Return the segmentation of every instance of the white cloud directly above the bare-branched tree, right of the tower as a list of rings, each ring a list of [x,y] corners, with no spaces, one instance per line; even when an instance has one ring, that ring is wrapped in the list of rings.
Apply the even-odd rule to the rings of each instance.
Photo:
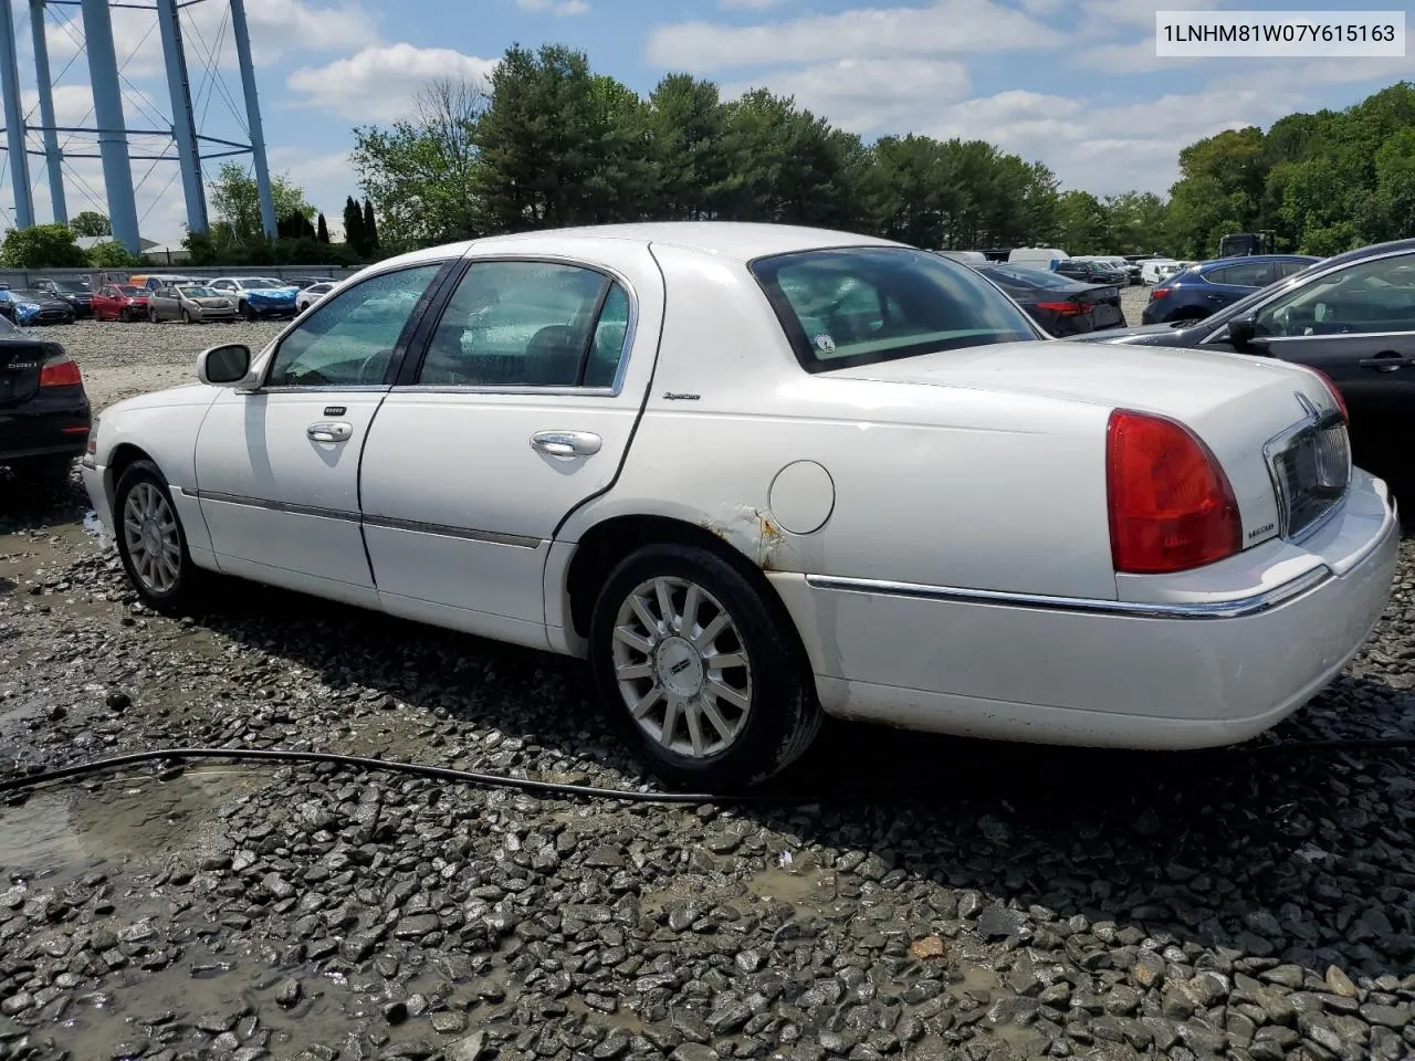
[[[297,106],[320,108],[355,122],[392,122],[408,116],[413,93],[437,78],[485,83],[497,59],[483,59],[451,48],[371,45],[325,66],[301,66],[290,74]]]

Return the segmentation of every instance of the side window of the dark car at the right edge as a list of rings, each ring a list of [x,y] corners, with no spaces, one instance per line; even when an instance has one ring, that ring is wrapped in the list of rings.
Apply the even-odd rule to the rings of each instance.
[[[1415,331],[1415,255],[1327,273],[1265,306],[1254,325],[1274,338]]]

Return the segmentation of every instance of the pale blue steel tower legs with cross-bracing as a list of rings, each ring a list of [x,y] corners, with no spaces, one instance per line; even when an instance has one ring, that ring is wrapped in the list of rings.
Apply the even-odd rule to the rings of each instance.
[[[229,25],[235,41],[236,65],[245,96],[243,132],[248,143],[207,136],[200,130],[192,106],[191,76],[183,41],[183,11],[194,4],[221,4],[226,8],[222,31]],[[211,158],[249,154],[260,201],[260,226],[267,238],[276,235],[275,197],[270,190],[270,168],[266,163],[265,134],[260,126],[260,102],[256,92],[255,64],[250,58],[250,33],[246,24],[245,0],[28,0],[30,30],[34,51],[34,81],[38,95],[38,124],[30,124],[24,110],[20,83],[20,62],[16,42],[14,11],[10,0],[0,0],[0,93],[4,96],[4,150],[10,158],[10,184],[14,195],[17,228],[35,224],[34,194],[30,177],[30,157],[42,157],[50,185],[54,219],[68,224],[64,170],[67,158],[98,158],[103,167],[105,199],[113,238],[129,253],[142,250],[139,242],[137,190],[133,184],[133,161],[175,161],[180,168],[183,197],[187,207],[187,228],[207,232],[207,197],[202,163]],[[58,126],[54,112],[54,78],[50,74],[47,16],[50,7],[78,7],[82,13],[83,38],[75,41],[88,57],[89,85],[93,93],[93,126]],[[167,74],[167,93],[171,100],[171,124],[158,129],[132,129],[125,119],[122,68],[113,42],[112,8],[153,11],[161,35],[163,62]],[[65,18],[64,27],[69,31]],[[202,41],[205,44],[205,41]],[[219,81],[219,45],[207,50],[208,74]],[[76,58],[76,57],[75,57]],[[72,62],[72,61],[71,61]],[[61,74],[62,76],[62,74]],[[209,79],[208,79],[209,83]],[[132,86],[132,82],[129,82]],[[222,89],[222,92],[225,92]],[[208,98],[209,102],[209,98]],[[231,103],[229,95],[226,102]],[[158,117],[161,117],[158,115]],[[239,116],[238,116],[239,120]],[[166,123],[167,119],[163,119]],[[154,123],[156,124],[156,123]],[[30,134],[40,136],[42,147],[30,146]],[[59,133],[67,133],[65,144]],[[96,137],[98,153],[67,150],[75,136]],[[133,154],[129,137],[161,137],[164,144],[153,154]],[[205,146],[222,150],[204,153]],[[168,153],[171,147],[171,153]],[[151,173],[151,170],[149,170]],[[81,180],[81,178],[79,178]]]

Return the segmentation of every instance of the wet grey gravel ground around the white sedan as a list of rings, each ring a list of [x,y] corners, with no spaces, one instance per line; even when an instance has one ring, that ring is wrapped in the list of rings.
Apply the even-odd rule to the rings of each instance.
[[[0,511],[0,777],[225,744],[647,787],[572,661],[239,583],[158,617],[82,518],[74,484]],[[737,809],[333,767],[40,789],[0,806],[0,1057],[1408,1058],[1411,757],[1268,747],[1415,736],[1402,556],[1361,656],[1242,751],[831,726],[802,799]]]

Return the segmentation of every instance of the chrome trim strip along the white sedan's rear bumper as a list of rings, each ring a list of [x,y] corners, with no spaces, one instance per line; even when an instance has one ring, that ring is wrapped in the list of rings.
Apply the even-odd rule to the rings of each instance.
[[[1157,620],[1227,620],[1245,618],[1272,611],[1296,600],[1327,580],[1336,577],[1332,569],[1320,564],[1299,574],[1282,586],[1223,601],[1190,603],[1139,603],[1124,600],[1102,600],[1098,597],[1050,597],[1032,593],[1005,590],[968,590],[957,586],[924,586],[920,583],[889,581],[882,579],[848,579],[829,574],[808,574],[807,584],[818,590],[836,593],[863,593],[884,597],[910,597],[955,604],[995,604],[1010,608],[1032,608],[1088,615],[1124,615],[1128,618]]]

